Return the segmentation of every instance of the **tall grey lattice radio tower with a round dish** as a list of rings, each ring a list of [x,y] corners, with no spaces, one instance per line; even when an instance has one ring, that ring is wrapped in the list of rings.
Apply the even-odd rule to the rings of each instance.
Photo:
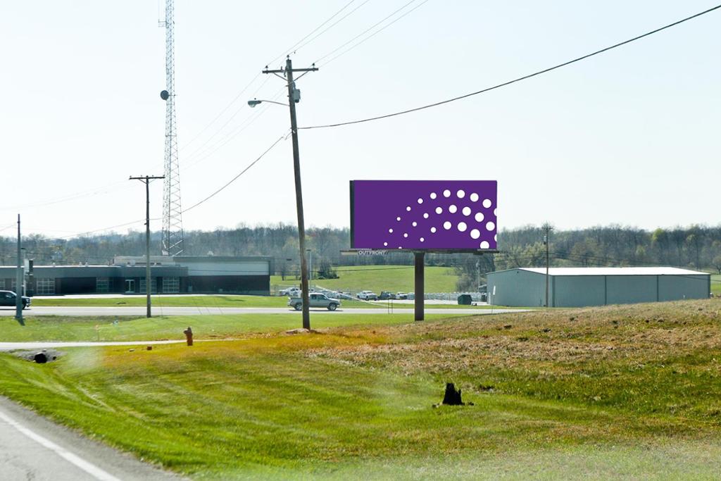
[[[180,167],[178,164],[177,120],[175,118],[175,51],[173,45],[173,0],[165,1],[165,180],[163,183],[163,255],[183,252]]]

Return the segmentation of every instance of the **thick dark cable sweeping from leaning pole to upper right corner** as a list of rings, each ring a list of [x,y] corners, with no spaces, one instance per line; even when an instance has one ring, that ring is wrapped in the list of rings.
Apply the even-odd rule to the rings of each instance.
[[[481,89],[481,90],[478,90],[478,91],[476,91],[476,92],[471,92],[471,93],[469,93],[469,94],[464,94],[464,95],[461,95],[461,96],[459,96],[459,97],[453,97],[453,98],[448,99],[448,100],[441,100],[441,102],[434,102],[434,103],[432,103],[432,104],[423,105],[423,106],[421,106],[421,107],[415,107],[415,108],[412,108],[412,109],[402,110],[402,111],[400,111],[400,112],[389,113],[389,114],[386,114],[386,115],[378,115],[378,116],[376,116],[376,117],[364,118],[364,119],[361,119],[361,120],[351,120],[350,122],[330,123],[330,124],[326,124],[326,125],[311,125],[311,126],[309,126],[309,127],[298,127],[298,128],[299,128],[299,129],[302,129],[302,130],[309,130],[309,129],[313,129],[313,128],[341,127],[342,125],[353,125],[353,124],[356,124],[356,123],[371,122],[371,121],[373,121],[373,120],[381,120],[381,119],[384,119],[384,118],[397,117],[398,115],[405,115],[405,114],[407,114],[407,113],[417,112],[417,111],[419,111],[419,110],[425,110],[425,109],[429,109],[429,108],[431,108],[431,107],[438,107],[439,105],[444,105],[444,104],[448,104],[448,103],[451,103],[451,102],[455,102],[456,100],[466,99],[466,98],[468,98],[468,97],[472,97],[472,96],[474,96],[474,95],[478,95],[478,94],[483,94],[483,93],[486,93],[486,92],[490,92],[490,91],[492,91],[492,90],[500,89],[500,88],[502,88],[502,87],[508,87],[508,85],[510,85],[510,84],[516,84],[517,82],[520,82],[520,81],[523,81],[523,80],[527,80],[527,79],[531,79],[531,78],[533,78],[533,77],[535,77],[535,76],[547,74],[547,73],[550,72],[550,71],[554,71],[554,70],[557,70],[557,69],[561,69],[562,67],[569,66],[569,65],[571,65],[572,63],[576,63],[576,62],[583,61],[583,60],[585,60],[585,59],[587,59],[587,58],[590,58],[590,57],[593,57],[593,56],[597,56],[597,55],[599,55],[599,54],[601,54],[601,53],[608,52],[609,50],[613,50],[614,48],[619,48],[619,47],[621,47],[622,45],[627,45],[628,43],[635,42],[636,40],[640,40],[640,39],[642,39],[642,38],[644,38],[644,37],[648,37],[648,36],[653,35],[653,34],[655,34],[655,33],[658,33],[658,32],[661,32],[661,31],[663,31],[663,30],[666,30],[666,29],[668,29],[668,28],[676,27],[676,25],[681,25],[681,24],[684,23],[684,22],[688,22],[688,21],[691,20],[691,19],[695,19],[695,18],[697,18],[697,17],[701,17],[702,15],[709,14],[709,13],[714,12],[715,10],[720,9],[720,8],[721,8],[721,5],[714,6],[714,7],[710,8],[710,9],[704,10],[703,12],[699,12],[699,13],[697,13],[697,14],[691,15],[691,17],[686,17],[686,18],[684,18],[684,19],[678,20],[677,22],[673,22],[673,23],[671,23],[671,24],[665,25],[665,26],[660,27],[660,28],[657,28],[657,29],[655,29],[655,30],[651,30],[650,32],[646,32],[646,33],[644,33],[644,34],[642,34],[642,35],[638,35],[637,37],[630,38],[629,40],[624,40],[623,42],[616,43],[616,44],[611,45],[611,46],[609,46],[609,47],[602,48],[601,50],[596,50],[595,52],[588,53],[588,54],[586,54],[586,55],[584,55],[584,56],[580,56],[580,57],[578,57],[578,58],[574,58],[574,59],[572,59],[572,60],[570,60],[570,61],[565,61],[565,62],[563,62],[563,63],[559,63],[559,64],[557,64],[557,65],[555,65],[555,66],[549,67],[548,69],[539,70],[539,71],[536,71],[536,72],[534,72],[534,73],[532,73],[532,74],[524,75],[524,76],[518,77],[518,78],[513,79],[513,80],[505,81],[505,82],[503,82],[502,84],[497,84],[497,85],[494,85],[493,87],[487,87],[487,88],[485,88],[485,89]]]

